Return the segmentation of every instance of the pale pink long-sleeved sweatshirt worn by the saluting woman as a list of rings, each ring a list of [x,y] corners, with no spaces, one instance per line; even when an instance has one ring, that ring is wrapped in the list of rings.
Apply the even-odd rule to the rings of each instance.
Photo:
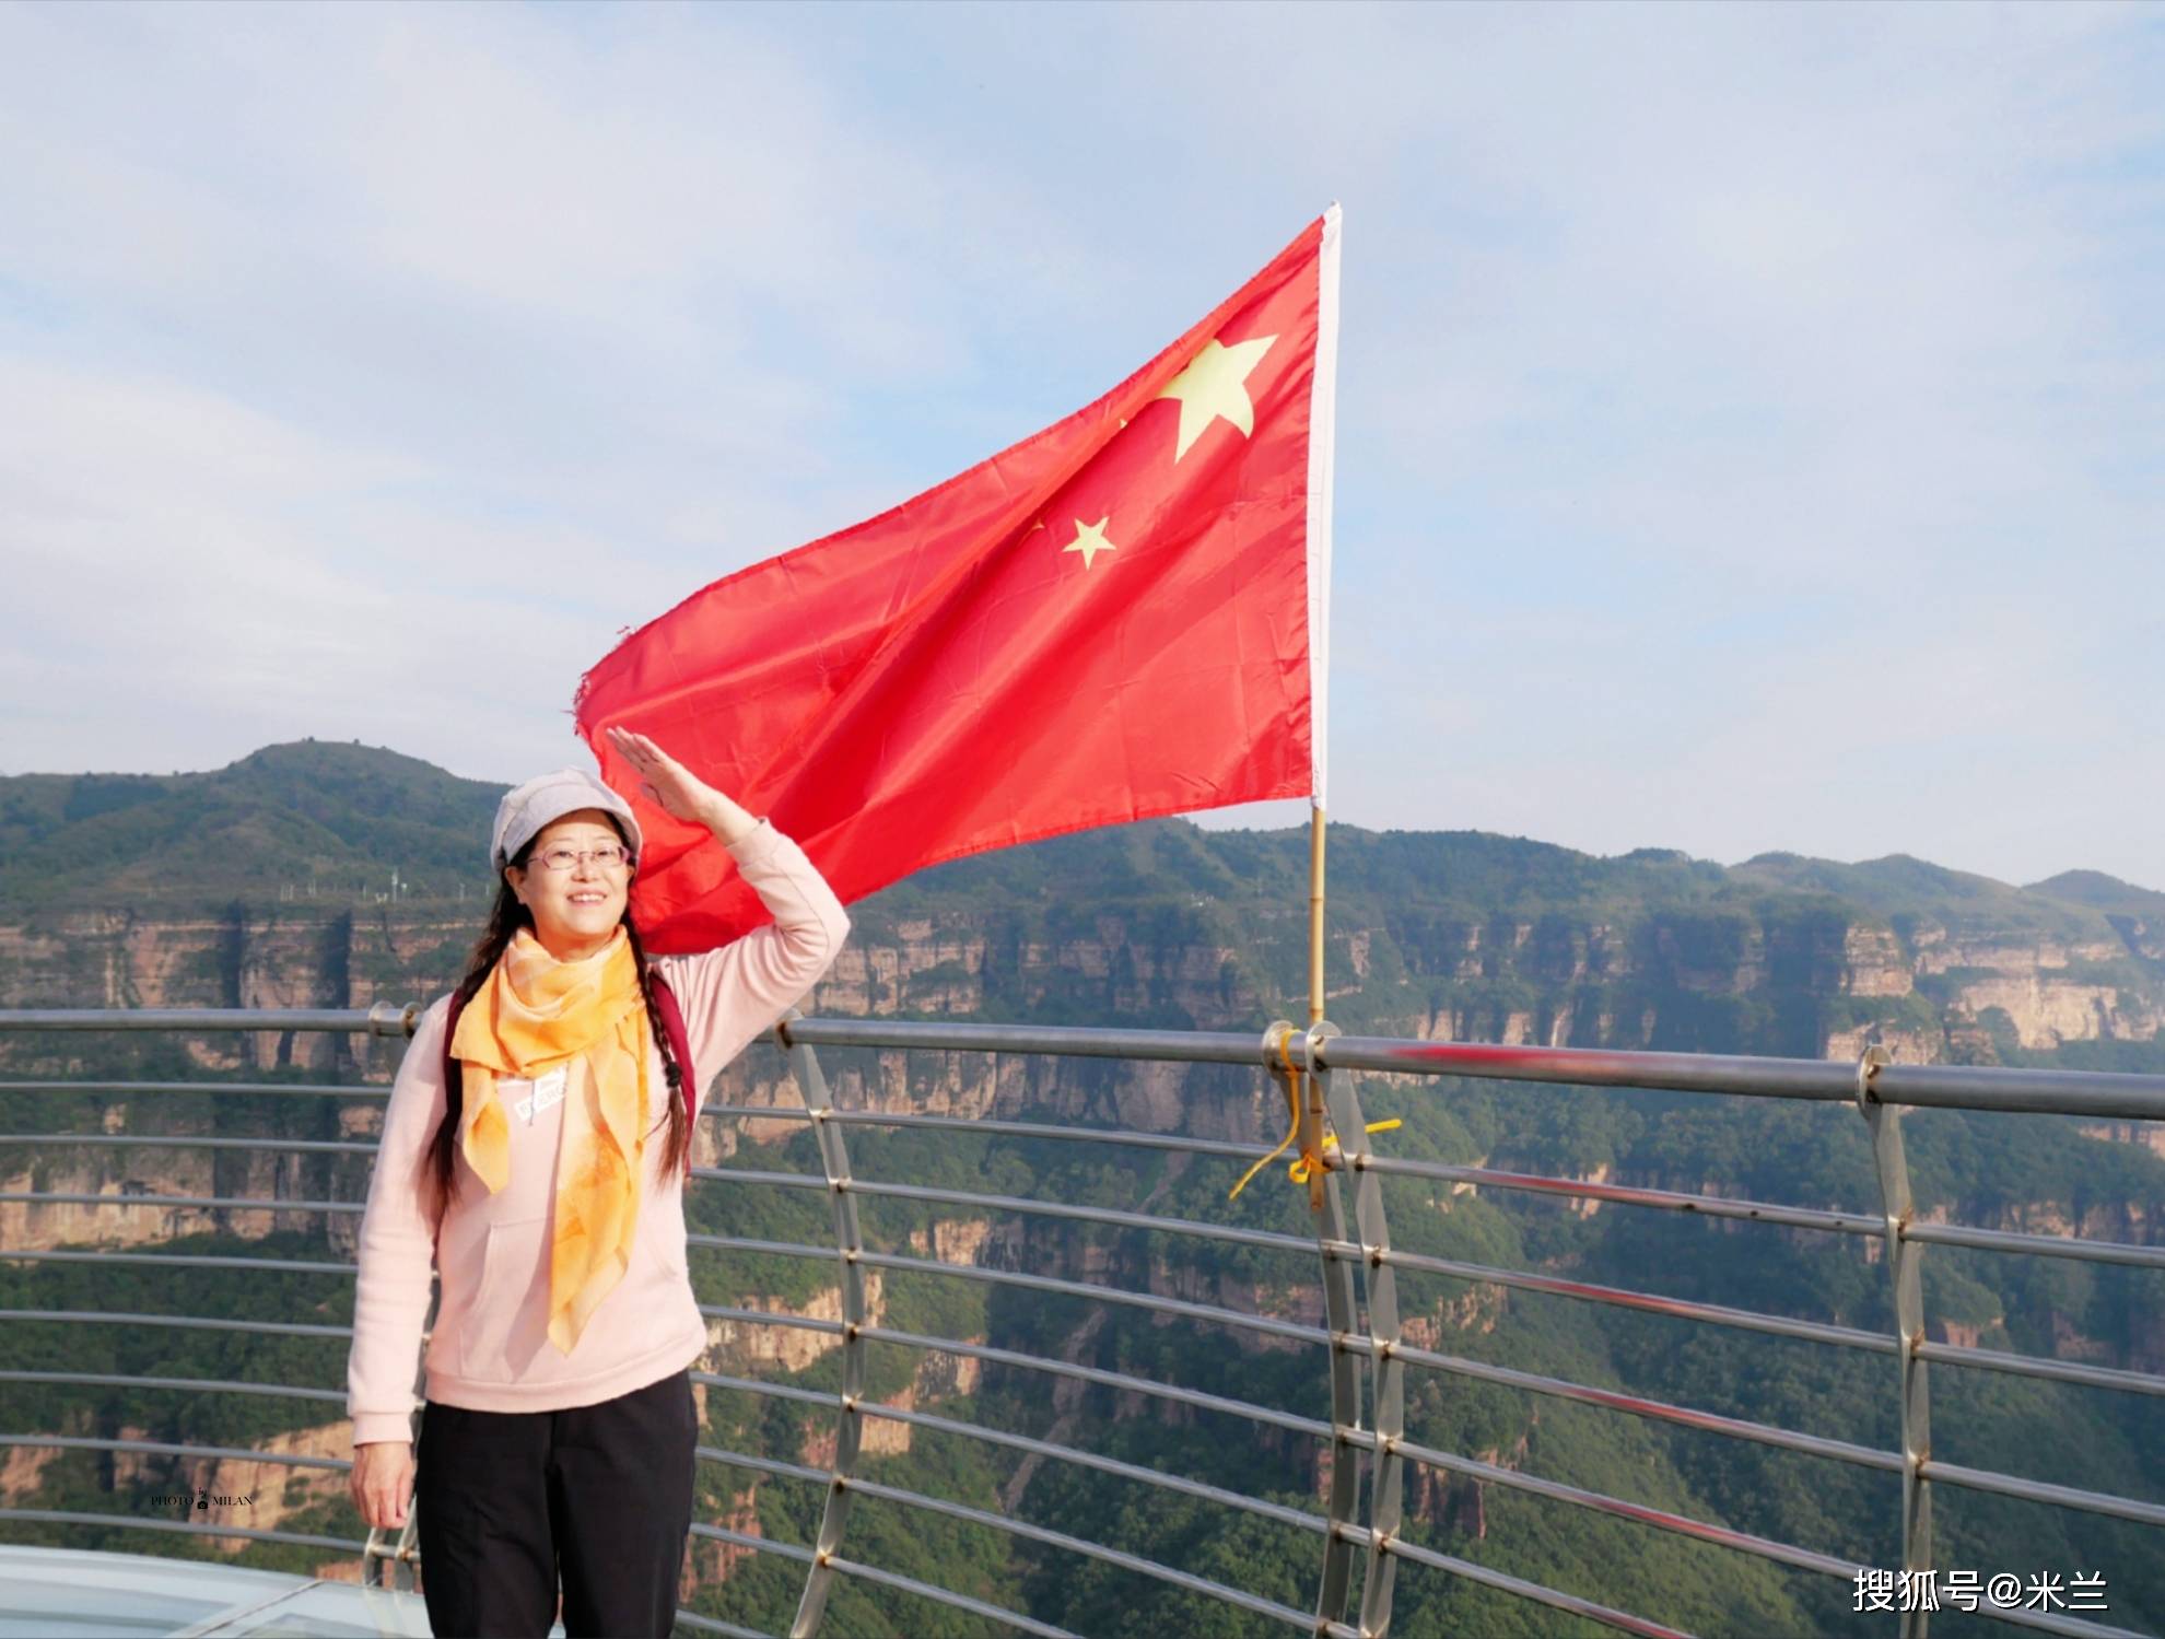
[[[834,961],[849,916],[803,849],[760,821],[730,853],[775,920],[721,950],[658,957],[684,1007],[699,1109],[708,1083],[790,1009]],[[435,1000],[407,1044],[383,1117],[383,1145],[362,1217],[359,1290],[346,1412],[353,1444],[411,1440],[420,1403],[414,1360],[429,1314],[431,1258],[442,1280],[429,1336],[427,1397],[478,1412],[550,1412],[630,1394],[682,1371],[706,1349],[706,1323],[684,1260],[684,1178],[662,1169],[667,1113],[645,1145],[632,1262],[569,1355],[548,1340],[550,1223],[563,1076],[504,1076],[511,1182],[489,1195],[461,1156],[450,1208],[429,1210],[429,1143],[444,1119],[444,1015]],[[660,1052],[650,1085],[667,1089]]]

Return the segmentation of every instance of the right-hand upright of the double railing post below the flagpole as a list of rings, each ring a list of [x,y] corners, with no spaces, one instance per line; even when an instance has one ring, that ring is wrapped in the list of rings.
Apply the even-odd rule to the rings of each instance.
[[[1381,1639],[1390,1630],[1390,1596],[1399,1578],[1399,1537],[1405,1509],[1405,1362],[1399,1360],[1399,1275],[1390,1267],[1390,1221],[1383,1215],[1383,1180],[1368,1169],[1368,1122],[1351,1078],[1334,1078],[1318,1059],[1318,1046],[1338,1035],[1321,1022],[1308,1031],[1308,1074],[1323,1091],[1338,1156],[1353,1167],[1353,1223],[1360,1230],[1362,1282],[1368,1288],[1368,1401],[1375,1407],[1375,1459],[1368,1477],[1368,1572],[1360,1591],[1360,1630]],[[1336,1182],[1336,1178],[1334,1178]],[[1344,1260],[1338,1260],[1344,1264]]]

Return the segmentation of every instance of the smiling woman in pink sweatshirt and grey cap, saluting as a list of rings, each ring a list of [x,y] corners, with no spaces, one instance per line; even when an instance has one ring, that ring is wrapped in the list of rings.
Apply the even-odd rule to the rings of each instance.
[[[422,1013],[383,1117],[346,1368],[353,1500],[370,1529],[403,1526],[418,1503],[439,1635],[548,1633],[559,1570],[569,1635],[675,1624],[688,1366],[706,1349],[684,1258],[693,1113],[680,1089],[701,1093],[849,931],[795,842],[654,740],[613,730],[611,745],[647,797],[730,849],[775,920],[650,963],[628,912],[630,803],[565,769],[496,810],[487,931],[459,989]],[[656,976],[691,1063],[673,1063]],[[431,1254],[442,1295],[416,1472]]]

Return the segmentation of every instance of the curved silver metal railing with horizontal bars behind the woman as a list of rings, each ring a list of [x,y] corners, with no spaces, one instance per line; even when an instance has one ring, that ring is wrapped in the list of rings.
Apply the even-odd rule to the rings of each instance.
[[[377,1007],[368,1013],[336,1009],[288,1009],[288,1011],[0,1011],[0,1031],[344,1031],[368,1035],[407,1035],[418,1018],[418,1009]],[[801,1106],[773,1104],[708,1104],[706,1113],[721,1119],[758,1122],[801,1122],[814,1137],[818,1173],[784,1173],[753,1167],[695,1169],[697,1180],[727,1180],[736,1189],[818,1191],[829,1197],[834,1243],[764,1241],[751,1236],[693,1234],[691,1245],[712,1247],[734,1254],[762,1254],[792,1260],[834,1262],[838,1267],[838,1319],[777,1312],[769,1308],[710,1306],[701,1303],[701,1314],[710,1321],[749,1327],[782,1327],[825,1334],[836,1340],[840,1355],[840,1388],[818,1390],[764,1377],[734,1377],[695,1371],[695,1381],[719,1390],[736,1390],[769,1401],[790,1401],[834,1414],[834,1457],[825,1466],[784,1461],[773,1455],[751,1451],[723,1451],[699,1446],[699,1459],[747,1474],[799,1481],[823,1490],[823,1507],[812,1542],[792,1544],[766,1535],[697,1522],[693,1535],[712,1539],[753,1555],[769,1555],[803,1565],[803,1587],[790,1624],[792,1635],[810,1635],[821,1626],[831,1589],[838,1578],[864,1583],[914,1598],[933,1600],[961,1613],[998,1622],[1020,1633],[1063,1633],[1022,1611],[1000,1609],[966,1591],[940,1587],[918,1578],[901,1576],[892,1570],[851,1559],[849,1526],[853,1500],[877,1498],[903,1509],[937,1516],[959,1524],[996,1531],[1037,1550],[1076,1555],[1117,1568],[1121,1572],[1154,1578],[1173,1589],[1221,1602],[1245,1611],[1267,1624],[1293,1628],[1379,1639],[1392,1615],[1392,1598],[1401,1563],[1429,1572],[1464,1578],[1485,1589],[1531,1600],[1559,1613],[1591,1620],[1611,1628],[1639,1635],[1669,1635],[1676,1628],[1656,1620],[1635,1615],[1596,1598],[1563,1589],[1544,1587],[1526,1578],[1500,1572],[1470,1559],[1444,1555],[1405,1535],[1403,1494],[1407,1466],[1433,1470],[1481,1485],[1496,1485],[1520,1496],[1567,1505],[1613,1520],[1628,1520],[1652,1531],[1671,1533],[1684,1539],[1713,1544],[1726,1550],[1764,1559],[1788,1570],[1816,1576],[1845,1578],[1858,1583],[1873,1568],[1860,1565],[1840,1555],[1823,1552],[1803,1544],[1786,1544],[1751,1535],[1710,1520],[1695,1520],[1682,1513],[1645,1503],[1609,1496],[1557,1479],[1541,1479],[1520,1472],[1500,1461],[1483,1461],[1461,1453],[1440,1451],[1407,1438],[1405,1390],[1407,1371],[1435,1373],[1440,1377],[1490,1384],[1537,1397],[1567,1401],[1606,1412],[1624,1412],[1654,1425],[1693,1429],[1728,1440],[1749,1442],[1767,1448],[1825,1459],[1860,1470],[1888,1474],[1888,1483],[1899,1490],[1901,1533],[1894,1548],[1894,1563],[1912,1574],[1933,1570],[1933,1518],[1931,1498],[1940,1485],[1966,1492],[2020,1498],[2055,1509],[2074,1509],[2143,1526],[2165,1526],[2165,1505],[2120,1496],[2102,1490],[2048,1483],[2022,1474],[1970,1468],[1944,1461],[1931,1451],[1931,1364],[1959,1366],[1968,1371],[2003,1373],[2055,1384],[2072,1384],[2102,1390],[2120,1390],[2141,1397],[2165,1394],[2165,1377],[2143,1371],[2100,1366],[2087,1360],[2059,1360],[2046,1355],[2024,1355],[1974,1345],[1933,1342],[1925,1336],[1920,1258],[1927,1245],[1966,1247],[1996,1254],[2031,1254],[2048,1258],[2074,1258],[2098,1264],[2124,1264],[2137,1269],[2165,1269],[2165,1245],[2115,1243],[2081,1236],[2052,1236],[2016,1230],[1985,1230],[1953,1223],[1916,1221],[1910,1167],[1903,1148],[1903,1111],[1961,1109],[1994,1113],[2035,1115],[2085,1115],[2120,1119],[2165,1119],[2165,1076],[2107,1076],[2107,1074],[2061,1074],[2061,1072],[2018,1072],[1948,1065],[1894,1065],[1877,1050],[1866,1052],[1862,1063],[1819,1063],[1784,1059],[1741,1059],[1663,1052],[1598,1052],[1561,1048],[1494,1048],[1435,1041],[1394,1041],[1377,1037],[1344,1037],[1329,1024],[1297,1031],[1277,1024],[1260,1039],[1228,1033],[1178,1033],[1178,1031],[1085,1031],[1085,1028],[1035,1028],[1005,1024],[909,1024],[892,1020],[814,1020],[790,1018],[775,1031],[775,1041],[788,1054],[788,1065]],[[1063,1122],[1024,1119],[966,1119],[924,1111],[851,1111],[838,1109],[829,1093],[827,1078],[818,1061],[818,1048],[877,1048],[877,1050],[931,1050],[931,1052],[987,1052],[987,1054],[1050,1054],[1080,1059],[1130,1059],[1169,1061],[1191,1065],[1251,1065],[1260,1074],[1286,1078],[1301,1074],[1314,1080],[1323,1093],[1329,1126],[1342,1145],[1331,1156],[1331,1169],[1323,1180],[1321,1210],[1314,1219],[1314,1234],[1299,1236],[1277,1230],[1245,1228],[1234,1223],[1210,1223],[1186,1217],[1156,1215],[1147,1210],[1126,1210],[1076,1202],[1054,1202],[1037,1197],[1015,1197],[979,1193],[966,1189],[931,1189],[901,1180],[857,1178],[851,1167],[847,1132],[860,1128],[916,1130],[955,1137],[1005,1137],[1054,1143],[1113,1145],[1143,1152],[1178,1152],[1186,1156],[1219,1156],[1230,1161],[1254,1161],[1267,1154],[1264,1145],[1236,1143],[1228,1139],[1191,1139],[1176,1132],[1143,1132],[1121,1128],[1093,1128]],[[1492,1169],[1485,1165],[1435,1163],[1405,1156],[1381,1156],[1373,1150],[1362,1104],[1349,1072],[1388,1074],[1394,1078],[1487,1078],[1518,1083],[1548,1083],[1565,1087],[1635,1087],[1635,1089],[1678,1089],[1695,1093],[1728,1093],[1745,1098],[1821,1100],[1849,1102],[1858,1109],[1875,1163],[1875,1182],[1881,1210],[1875,1215],[1845,1212],[1812,1206],[1786,1206],[1773,1202],[1736,1199],[1710,1193],[1684,1193],[1663,1189],[1639,1189],[1602,1180],[1546,1178]],[[1399,1087],[1414,1087],[1401,1080]],[[385,1087],[325,1087],[290,1083],[147,1083],[147,1080],[11,1080],[0,1091],[115,1091],[115,1093],[279,1093],[279,1096],[336,1096],[366,1098],[383,1096]],[[242,1152],[314,1152],[314,1154],[368,1154],[372,1143],[327,1141],[327,1139],[255,1139],[255,1137],[193,1137],[193,1135],[130,1135],[130,1132],[9,1132],[0,1135],[0,1145],[188,1145],[206,1150]],[[1498,1189],[1535,1197],[1561,1197],[1572,1202],[1596,1202],[1643,1208],[1671,1215],[1700,1215],[1736,1223],[1773,1225],[1788,1232],[1819,1232],[1827,1236],[1849,1236],[1877,1241],[1892,1286],[1892,1332],[1868,1332],[1832,1321],[1801,1319],[1764,1310],[1745,1310],[1721,1303],[1706,1303],[1656,1293],[1632,1290],[1596,1282],[1565,1280],[1561,1275],[1505,1269],[1457,1258],[1438,1258],[1405,1251],[1392,1245],[1386,1215],[1381,1180],[1416,1178],[1448,1182],[1455,1186]],[[1351,1189],[1351,1202],[1347,1202]],[[1186,1241],[1215,1243],[1225,1247],[1271,1249],[1318,1258],[1321,1325],[1288,1319],[1284,1314],[1262,1314],[1225,1303],[1206,1303],[1191,1297],[1173,1297],[1156,1290],[1111,1286],[1104,1282],[1072,1280],[1067,1275],[1028,1273],[1022,1269],[1000,1269],[989,1264],[953,1264],[937,1256],[920,1258],[898,1251],[879,1251],[866,1243],[860,1225],[860,1199],[892,1199],[916,1206],[955,1206],[972,1215],[996,1219],[1054,1219],[1085,1223],[1104,1230],[1143,1230],[1152,1234],[1180,1236]],[[110,1195],[110,1193],[54,1193],[54,1191],[11,1191],[0,1193],[0,1204],[95,1204],[119,1208],[223,1208],[223,1210],[277,1210],[340,1215],[359,1212],[359,1202],[338,1199],[245,1199],[221,1195]],[[333,1260],[292,1258],[247,1258],[247,1256],[195,1256],[167,1251],[95,1251],[95,1249],[24,1249],[6,1247],[0,1256],[17,1262],[97,1262],[139,1267],[184,1267],[184,1269],[234,1269],[234,1271],[288,1271],[351,1277],[353,1267]],[[866,1271],[905,1273],[931,1280],[976,1282],[998,1290],[1035,1293],[1046,1297],[1080,1299],[1115,1310],[1137,1310],[1163,1321],[1186,1321],[1208,1327],[1273,1338],[1282,1345],[1314,1347],[1323,1351],[1323,1368],[1316,1381],[1316,1409],[1327,1416],[1305,1416],[1243,1399],[1232,1399],[1202,1388],[1160,1381],[1139,1373],[1108,1366],[1082,1364],[1070,1358],[1052,1358],[1020,1349],[998,1347],[989,1340],[944,1338],[907,1329],[894,1329],[875,1321],[868,1303]],[[1407,1342],[1401,1329],[1396,1275],[1399,1271],[1444,1275],[1459,1282],[1496,1286],[1507,1290],[1561,1297],[1578,1303],[1619,1308],[1641,1314],[1658,1314],[1695,1325],[1777,1336],[1827,1345],[1834,1349],[1862,1351],[1892,1358],[1888,1377],[1890,1399],[1897,1412],[1899,1448],[1879,1448],[1849,1440],[1786,1429],[1749,1418],[1717,1414],[1661,1399],[1628,1394],[1611,1388],[1548,1377],[1516,1366],[1500,1366],[1468,1360],[1440,1349]],[[6,1321],[58,1321],[76,1325],[136,1325],[136,1327],[208,1327],[247,1329],[277,1336],[351,1336],[349,1327],[301,1325],[301,1323],[258,1323],[221,1321],[186,1314],[119,1314],[104,1310],[0,1310]],[[1258,1429],[1314,1440],[1327,1453],[1321,1477],[1318,1509],[1290,1507],[1286,1503],[1245,1496],[1223,1485],[1189,1479],[1158,1468],[1145,1468],[1104,1453],[1091,1453],[1057,1440],[1039,1440],[1007,1429],[996,1429],[909,1405],[888,1405],[866,1390],[866,1351],[872,1345],[916,1353],[942,1353],[957,1360],[974,1360],[1020,1373],[1037,1373],[1052,1379],[1108,1388],[1124,1394],[1163,1401],[1191,1412],[1228,1416]],[[71,1384],[71,1386],[130,1386],[141,1390],[180,1390],[195,1394],[268,1394],[303,1401],[344,1403],[340,1390],[286,1386],[286,1384],[242,1384],[223,1379],[175,1379],[175,1377],[130,1377],[130,1375],[82,1375],[65,1371],[0,1371],[0,1381],[15,1384]],[[1052,1531],[1020,1518],[1011,1511],[970,1507],[950,1498],[929,1496],[898,1485],[870,1479],[864,1472],[866,1422],[898,1422],[914,1429],[981,1442],[1024,1459],[1048,1459],[1076,1468],[1111,1474],[1134,1485],[1184,1496],[1228,1511],[1271,1520],[1282,1526],[1308,1533],[1318,1539],[1316,1548],[1316,1602],[1310,1609],[1295,1609],[1249,1589],[1232,1587],[1223,1581],[1202,1576],[1180,1565],[1160,1563],[1128,1548],[1093,1542],[1087,1537]],[[182,1457],[253,1457],[260,1461],[344,1468],[329,1457],[262,1455],[232,1446],[195,1446],[186,1442],[147,1442],[126,1438],[63,1435],[56,1431],[0,1429],[4,1446],[45,1448],[95,1448],[110,1453],[182,1455]],[[0,1509],[0,1520],[24,1522],[95,1522],[102,1526],[145,1526],[145,1529],[193,1529],[175,1526],[171,1520],[134,1520],[130,1516],[45,1511],[45,1509]],[[305,1533],[245,1531],[238,1526],[206,1529],[208,1535],[229,1535],[264,1542],[292,1542],[316,1548],[338,1548],[362,1552],[370,1572],[381,1563],[392,1574],[409,1578],[418,1559],[411,1524],[398,1539],[372,1533],[370,1539],[349,1542]],[[1858,1583],[1862,1587],[1862,1583]],[[1357,1598],[1355,1598],[1357,1596]],[[2052,1609],[2024,1609],[1983,1598],[1979,1602],[1987,1615],[2007,1624],[2063,1635],[2109,1635],[2126,1633],[2068,1615]],[[701,1633],[751,1633],[714,1617],[680,1611],[680,1624]],[[1923,1639],[1927,1630],[1925,1611],[1907,1611],[1899,1617],[1901,1633]]]

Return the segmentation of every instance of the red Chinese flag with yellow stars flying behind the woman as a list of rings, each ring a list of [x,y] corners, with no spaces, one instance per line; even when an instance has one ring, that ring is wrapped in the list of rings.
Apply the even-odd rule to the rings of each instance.
[[[652,950],[766,912],[637,795],[613,725],[797,838],[844,899],[1264,797],[1323,805],[1338,208],[1098,403],[626,637],[578,732],[632,799]]]

